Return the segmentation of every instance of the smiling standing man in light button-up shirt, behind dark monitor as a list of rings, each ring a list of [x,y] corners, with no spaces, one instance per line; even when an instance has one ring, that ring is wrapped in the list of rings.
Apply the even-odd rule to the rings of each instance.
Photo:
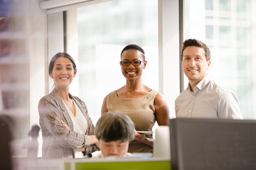
[[[200,40],[188,39],[181,48],[181,68],[188,88],[175,101],[177,118],[242,119],[238,97],[208,75],[210,49]]]

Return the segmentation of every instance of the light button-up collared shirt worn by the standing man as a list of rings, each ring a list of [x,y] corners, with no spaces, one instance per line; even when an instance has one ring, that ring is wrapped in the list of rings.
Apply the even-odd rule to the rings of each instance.
[[[216,84],[207,75],[191,91],[184,90],[175,101],[177,118],[242,119],[238,97],[233,91]]]

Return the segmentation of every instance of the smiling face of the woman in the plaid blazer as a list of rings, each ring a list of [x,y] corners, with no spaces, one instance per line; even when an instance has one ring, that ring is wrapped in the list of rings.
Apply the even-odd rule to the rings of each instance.
[[[53,72],[50,77],[53,78],[56,88],[65,88],[71,84],[75,77],[75,69],[72,62],[65,57],[59,57],[53,65]]]

